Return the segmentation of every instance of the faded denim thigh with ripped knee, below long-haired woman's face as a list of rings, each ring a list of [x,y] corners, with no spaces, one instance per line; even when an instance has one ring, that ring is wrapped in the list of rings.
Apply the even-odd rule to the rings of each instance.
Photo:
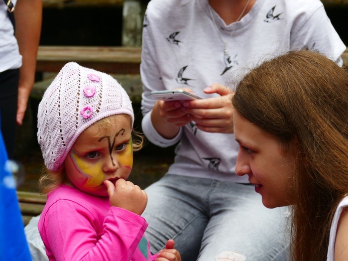
[[[220,181],[213,181],[208,201],[199,261],[290,260],[288,208],[266,208],[253,185]]]

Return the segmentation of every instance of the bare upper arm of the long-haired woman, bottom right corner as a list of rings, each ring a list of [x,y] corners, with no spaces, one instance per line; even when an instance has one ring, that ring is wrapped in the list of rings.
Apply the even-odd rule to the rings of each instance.
[[[335,261],[345,261],[348,256],[348,207],[343,208],[339,217],[334,256]]]

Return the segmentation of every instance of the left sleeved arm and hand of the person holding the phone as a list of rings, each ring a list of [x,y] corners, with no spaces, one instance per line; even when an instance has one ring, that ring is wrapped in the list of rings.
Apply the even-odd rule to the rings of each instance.
[[[142,129],[150,142],[168,147],[177,143],[180,139],[180,127],[187,124],[190,119],[187,113],[177,105],[179,102],[157,101],[150,95],[151,91],[165,90],[166,87],[161,78],[161,65],[157,60],[156,44],[152,34],[154,25],[149,15],[149,26],[143,28],[142,63],[140,72],[143,82],[142,93]]]

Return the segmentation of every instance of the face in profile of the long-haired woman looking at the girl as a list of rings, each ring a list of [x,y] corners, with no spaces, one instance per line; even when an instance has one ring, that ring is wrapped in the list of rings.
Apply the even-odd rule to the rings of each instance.
[[[255,191],[262,196],[268,208],[292,204],[294,195],[295,141],[289,144],[288,152],[280,142],[253,124],[236,110],[234,132],[239,144],[236,173],[248,175]]]

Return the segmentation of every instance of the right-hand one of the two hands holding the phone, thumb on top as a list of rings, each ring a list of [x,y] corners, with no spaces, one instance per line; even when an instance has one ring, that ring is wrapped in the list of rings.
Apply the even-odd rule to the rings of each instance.
[[[204,89],[205,93],[218,93],[220,97],[183,102],[182,109],[189,114],[197,128],[207,133],[233,133],[233,105],[231,97],[234,91],[221,84],[214,83]]]

